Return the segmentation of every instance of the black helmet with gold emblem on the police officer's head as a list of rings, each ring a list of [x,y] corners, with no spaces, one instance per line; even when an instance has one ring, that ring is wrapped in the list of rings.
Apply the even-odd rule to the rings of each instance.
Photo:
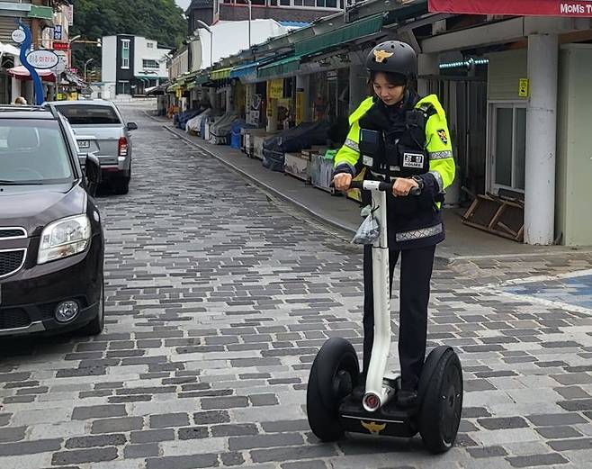
[[[412,79],[417,77],[417,54],[405,42],[382,42],[368,54],[366,68],[371,72],[395,73]]]

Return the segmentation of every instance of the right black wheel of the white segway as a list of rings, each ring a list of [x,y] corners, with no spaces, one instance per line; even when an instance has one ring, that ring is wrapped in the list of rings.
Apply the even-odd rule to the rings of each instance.
[[[435,365],[419,414],[419,433],[430,452],[444,453],[453,447],[461,414],[461,361],[448,348]]]

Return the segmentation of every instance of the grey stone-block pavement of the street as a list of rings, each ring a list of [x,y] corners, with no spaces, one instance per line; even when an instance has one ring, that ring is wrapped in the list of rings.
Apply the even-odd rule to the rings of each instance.
[[[327,338],[360,350],[360,249],[124,112],[140,125],[130,194],[99,201],[107,329],[0,341],[0,467],[592,466],[592,256],[438,259],[428,340],[461,356],[457,446],[321,444],[309,367]]]

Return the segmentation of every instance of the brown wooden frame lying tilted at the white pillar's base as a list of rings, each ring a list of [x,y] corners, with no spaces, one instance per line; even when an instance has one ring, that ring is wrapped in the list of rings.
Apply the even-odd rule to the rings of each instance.
[[[494,194],[480,194],[462,216],[462,222],[479,230],[523,242],[525,203]]]

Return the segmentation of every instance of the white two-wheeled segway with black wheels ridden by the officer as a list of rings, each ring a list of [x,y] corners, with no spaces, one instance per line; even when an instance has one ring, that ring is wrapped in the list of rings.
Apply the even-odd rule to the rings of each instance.
[[[385,376],[391,338],[386,193],[392,187],[379,181],[352,183],[352,188],[372,192],[380,223],[380,237],[372,245],[374,343],[365,393],[362,399],[354,397],[360,368],[352,344],[345,338],[328,339],[309,374],[309,425],[322,441],[336,441],[344,432],[391,437],[414,437],[419,432],[429,451],[444,453],[454,444],[462,412],[462,367],[453,348],[436,347],[427,356],[412,409],[399,409],[393,399],[400,378]]]

